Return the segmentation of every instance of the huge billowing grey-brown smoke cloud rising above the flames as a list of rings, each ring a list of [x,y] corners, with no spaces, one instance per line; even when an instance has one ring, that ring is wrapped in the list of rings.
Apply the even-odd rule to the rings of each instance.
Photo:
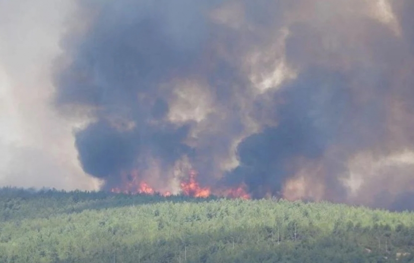
[[[413,190],[410,1],[78,4],[55,106],[89,119],[75,145],[106,188],[192,167],[254,197],[390,207]]]

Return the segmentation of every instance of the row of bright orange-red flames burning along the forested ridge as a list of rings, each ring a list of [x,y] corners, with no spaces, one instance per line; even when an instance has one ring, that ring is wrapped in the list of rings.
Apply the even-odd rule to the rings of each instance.
[[[170,191],[156,191],[147,182],[140,181],[137,172],[132,172],[129,175],[123,174],[122,186],[111,188],[113,193],[125,193],[125,194],[161,194],[163,196],[170,196]],[[250,195],[245,191],[245,186],[239,186],[237,188],[229,188],[223,191],[212,191],[210,187],[201,187],[197,181],[197,172],[191,170],[189,178],[180,183],[181,194],[185,196],[207,198],[214,194],[216,196],[223,196],[228,198],[242,198],[250,199]]]

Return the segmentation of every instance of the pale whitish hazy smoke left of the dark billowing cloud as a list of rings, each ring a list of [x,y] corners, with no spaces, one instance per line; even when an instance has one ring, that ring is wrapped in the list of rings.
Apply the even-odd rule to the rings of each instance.
[[[53,61],[71,1],[0,1],[0,186],[97,189],[72,121],[51,106]]]

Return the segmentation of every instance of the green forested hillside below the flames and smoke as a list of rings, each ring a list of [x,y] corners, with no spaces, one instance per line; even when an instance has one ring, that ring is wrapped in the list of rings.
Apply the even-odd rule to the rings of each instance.
[[[328,202],[0,189],[0,262],[414,262],[414,213]]]

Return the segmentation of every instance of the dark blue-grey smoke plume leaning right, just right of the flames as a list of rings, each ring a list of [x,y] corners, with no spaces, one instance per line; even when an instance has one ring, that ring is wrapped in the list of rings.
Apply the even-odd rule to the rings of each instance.
[[[278,125],[239,144],[241,166],[230,176],[244,178],[257,197],[266,192],[263,187],[273,194],[281,191],[285,180],[296,173],[286,167],[291,159],[319,160],[331,145],[342,140],[340,132],[351,105],[345,83],[344,77],[328,70],[310,70],[284,87],[275,95],[284,101],[275,105]],[[327,85],[329,90],[324,87]]]

